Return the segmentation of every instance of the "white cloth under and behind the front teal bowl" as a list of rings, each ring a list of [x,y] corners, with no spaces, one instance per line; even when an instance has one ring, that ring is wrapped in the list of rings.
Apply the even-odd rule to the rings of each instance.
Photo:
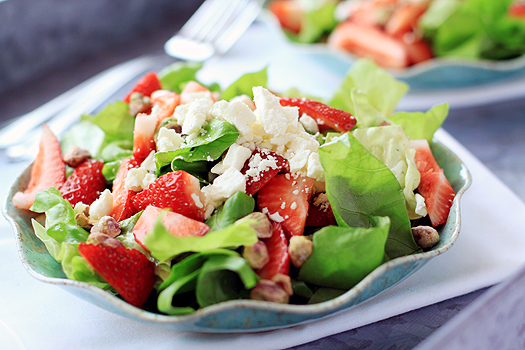
[[[322,94],[336,77],[301,64],[268,42],[264,32],[247,33],[223,60],[210,64],[204,77],[236,79],[240,69],[272,64],[271,86],[303,86]],[[250,36],[251,35],[251,36]],[[260,41],[257,41],[259,40]],[[260,45],[254,45],[260,42]],[[266,46],[265,46],[266,45]],[[273,46],[275,47],[273,47]],[[268,48],[283,52],[269,59]],[[249,49],[248,49],[249,48]],[[245,52],[246,51],[246,52]],[[233,57],[245,54],[245,67]],[[274,55],[275,56],[275,55]],[[273,56],[272,56],[273,57]],[[221,68],[220,74],[217,69]],[[303,71],[298,78],[298,71]],[[240,73],[239,73],[240,74]],[[272,75],[273,74],[273,75]],[[290,82],[290,79],[296,79]],[[316,83],[316,79],[319,83]],[[332,85],[330,85],[332,84]],[[437,136],[472,173],[472,186],[461,204],[462,228],[456,244],[413,276],[380,296],[336,316],[302,326],[255,334],[210,335],[157,328],[113,315],[63,289],[32,278],[17,255],[14,235],[0,219],[0,348],[2,349],[278,349],[373,323],[400,313],[469,293],[504,280],[525,263],[525,204],[445,131]],[[1,164],[0,193],[27,164]],[[3,202],[3,200],[2,200]]]

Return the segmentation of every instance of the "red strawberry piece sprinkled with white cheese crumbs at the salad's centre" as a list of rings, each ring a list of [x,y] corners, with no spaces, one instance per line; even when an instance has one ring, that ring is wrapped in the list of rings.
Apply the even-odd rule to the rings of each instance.
[[[275,159],[275,168],[268,167],[264,171],[258,171],[256,175],[252,175],[250,170],[250,161],[253,159],[258,159],[258,156],[263,160],[273,160]],[[286,158],[278,155],[275,152],[264,150],[254,150],[250,159],[246,161],[246,164],[241,169],[241,173],[247,175],[246,180],[246,194],[253,196],[257,191],[259,191],[264,185],[266,185],[275,175],[281,171],[288,164]]]

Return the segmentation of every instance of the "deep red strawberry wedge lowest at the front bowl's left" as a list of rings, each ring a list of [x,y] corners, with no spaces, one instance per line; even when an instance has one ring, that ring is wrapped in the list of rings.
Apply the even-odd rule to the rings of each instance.
[[[155,284],[155,264],[136,249],[80,243],[79,253],[133,306],[142,307]]]

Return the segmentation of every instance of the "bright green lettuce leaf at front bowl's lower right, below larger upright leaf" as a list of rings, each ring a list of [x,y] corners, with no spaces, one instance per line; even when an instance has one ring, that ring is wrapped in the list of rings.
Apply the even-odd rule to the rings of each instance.
[[[370,228],[323,227],[299,279],[318,286],[350,289],[383,262],[390,219],[369,217]]]

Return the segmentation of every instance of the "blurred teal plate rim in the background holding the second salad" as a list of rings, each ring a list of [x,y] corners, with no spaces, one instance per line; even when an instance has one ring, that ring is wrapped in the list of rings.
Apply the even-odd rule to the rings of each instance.
[[[300,44],[288,40],[275,16],[268,10],[259,18],[298,54],[339,76],[344,76],[356,60],[356,56],[334,50],[326,44]],[[467,88],[525,75],[525,55],[505,61],[435,58],[403,70],[388,71],[396,79],[410,85],[411,91]]]

